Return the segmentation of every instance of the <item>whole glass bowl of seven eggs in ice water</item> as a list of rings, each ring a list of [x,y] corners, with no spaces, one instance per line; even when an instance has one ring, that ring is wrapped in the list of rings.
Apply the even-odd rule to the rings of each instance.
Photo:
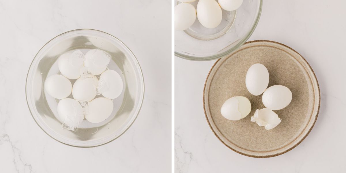
[[[130,49],[116,37],[77,29],[54,37],[36,54],[26,99],[38,126],[77,147],[106,144],[135,121],[144,80]]]

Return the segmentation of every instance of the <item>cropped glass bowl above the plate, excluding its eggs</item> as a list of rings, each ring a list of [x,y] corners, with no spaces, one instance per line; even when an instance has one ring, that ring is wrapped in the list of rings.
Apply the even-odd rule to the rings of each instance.
[[[191,4],[197,7],[197,3],[198,0]],[[261,10],[262,0],[244,0],[237,10],[222,10],[220,25],[212,29],[203,27],[196,18],[190,28],[174,32],[174,55],[187,60],[209,61],[235,51],[255,30]]]

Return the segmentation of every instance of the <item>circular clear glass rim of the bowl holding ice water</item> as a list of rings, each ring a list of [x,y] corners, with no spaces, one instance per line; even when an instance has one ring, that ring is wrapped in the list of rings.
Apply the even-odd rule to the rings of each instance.
[[[137,64],[138,66],[138,70],[139,70],[139,80],[140,80],[140,89],[139,89],[139,96],[140,96],[140,100],[139,100],[139,104],[137,106],[137,111],[135,112],[135,115],[134,117],[132,118],[132,120],[127,124],[126,128],[124,130],[121,131],[121,133],[117,136],[114,136],[111,140],[107,140],[106,142],[101,142],[101,144],[97,144],[97,145],[90,145],[90,146],[78,146],[78,145],[72,145],[72,144],[67,144],[65,142],[62,142],[60,140],[58,140],[57,138],[53,137],[52,135],[50,135],[36,120],[35,116],[33,115],[33,111],[31,111],[31,108],[30,108],[30,105],[29,105],[29,98],[28,98],[28,77],[29,77],[29,73],[30,71],[32,70],[32,65],[34,63],[34,61],[36,60],[37,58],[37,55],[42,51],[42,49],[47,45],[49,44],[52,40],[60,37],[60,36],[63,36],[67,33],[71,33],[71,32],[77,32],[77,31],[83,31],[83,30],[86,30],[86,31],[96,31],[96,32],[101,32],[103,34],[106,34],[108,35],[111,39],[115,39],[117,42],[119,42],[119,44],[121,44],[125,49],[127,49],[127,51],[134,57],[133,58],[133,61],[135,61],[135,63]],[[36,53],[35,57],[33,58],[33,61],[31,62],[30,66],[29,66],[29,70],[28,70],[28,73],[27,73],[27,77],[26,77],[26,82],[25,82],[25,97],[26,97],[26,101],[27,101],[27,105],[28,105],[28,108],[29,108],[29,111],[30,111],[30,114],[31,116],[33,117],[33,119],[35,120],[36,124],[38,125],[38,127],[40,127],[49,137],[53,138],[54,140],[62,143],[62,144],[65,144],[65,145],[68,145],[68,146],[73,146],[73,147],[79,147],[79,148],[89,148],[89,147],[96,147],[96,146],[101,146],[101,145],[104,145],[104,144],[108,144],[110,142],[112,142],[113,140],[117,139],[118,137],[120,137],[122,134],[124,134],[130,127],[131,125],[135,122],[135,120],[137,119],[138,117],[138,114],[140,112],[140,109],[142,108],[142,105],[143,105],[143,100],[144,100],[144,78],[143,78],[143,72],[142,72],[142,68],[140,67],[139,63],[138,63],[138,60],[136,58],[136,56],[133,54],[133,52],[121,41],[119,40],[117,37],[111,35],[111,34],[108,34],[104,31],[101,31],[101,30],[97,30],[97,29],[74,29],[74,30],[70,30],[70,31],[66,31],[62,34],[59,34],[57,36],[55,36],[54,38],[50,39],[46,44],[44,44],[40,49],[39,51]],[[92,143],[91,143],[92,144]]]

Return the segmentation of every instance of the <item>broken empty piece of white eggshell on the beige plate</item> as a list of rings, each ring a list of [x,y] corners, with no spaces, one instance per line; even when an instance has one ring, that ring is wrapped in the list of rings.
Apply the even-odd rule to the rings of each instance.
[[[281,119],[277,114],[267,108],[256,110],[254,116],[251,117],[252,122],[256,122],[258,126],[264,126],[266,130],[270,130],[280,124]]]

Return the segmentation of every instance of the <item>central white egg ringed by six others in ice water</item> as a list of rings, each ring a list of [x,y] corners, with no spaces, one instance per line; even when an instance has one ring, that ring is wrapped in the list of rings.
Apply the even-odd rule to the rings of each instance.
[[[72,88],[72,96],[76,100],[91,101],[96,96],[96,87],[98,79],[96,76],[92,78],[77,79]]]

